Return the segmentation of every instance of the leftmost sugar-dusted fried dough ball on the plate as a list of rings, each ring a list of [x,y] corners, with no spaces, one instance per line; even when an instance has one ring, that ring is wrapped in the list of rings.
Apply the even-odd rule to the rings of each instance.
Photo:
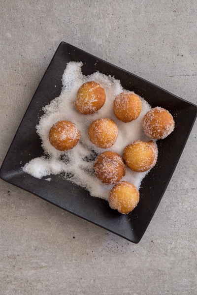
[[[77,129],[77,126],[66,120],[56,122],[49,131],[50,143],[61,151],[74,148],[80,136],[81,133]]]

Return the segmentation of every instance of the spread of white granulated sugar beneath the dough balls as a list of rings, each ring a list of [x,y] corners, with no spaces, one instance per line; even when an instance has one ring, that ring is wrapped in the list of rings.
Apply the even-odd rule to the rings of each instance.
[[[134,140],[148,141],[142,128],[142,119],[150,105],[141,98],[142,111],[140,116],[132,122],[124,123],[116,118],[113,112],[113,101],[123,90],[119,80],[95,72],[90,76],[82,74],[82,62],[69,62],[62,77],[63,88],[59,97],[46,105],[44,115],[36,126],[40,136],[43,156],[32,159],[23,167],[23,171],[33,177],[42,178],[53,174],[62,174],[66,179],[86,188],[94,197],[108,199],[112,185],[102,184],[94,175],[93,165],[96,156],[105,149],[95,147],[89,140],[88,128],[92,121],[98,118],[110,118],[119,128],[115,144],[107,150],[123,155],[124,148]],[[105,90],[104,106],[93,115],[82,115],[74,107],[79,87],[87,82],[95,81]],[[49,142],[48,134],[51,126],[59,120],[68,120],[76,124],[81,132],[79,143],[71,150],[62,152],[55,149]],[[122,180],[133,183],[138,189],[147,172],[136,173],[127,168],[126,176]]]

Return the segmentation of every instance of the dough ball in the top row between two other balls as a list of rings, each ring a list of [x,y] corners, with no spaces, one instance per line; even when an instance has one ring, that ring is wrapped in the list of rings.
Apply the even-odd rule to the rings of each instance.
[[[142,102],[134,92],[124,91],[116,96],[113,102],[113,108],[116,117],[127,123],[139,117]]]

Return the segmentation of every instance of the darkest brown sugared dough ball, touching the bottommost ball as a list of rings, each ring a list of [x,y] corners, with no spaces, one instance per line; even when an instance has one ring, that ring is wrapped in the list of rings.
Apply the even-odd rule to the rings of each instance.
[[[125,176],[126,167],[122,157],[114,151],[104,151],[95,160],[95,176],[102,183],[115,184]]]

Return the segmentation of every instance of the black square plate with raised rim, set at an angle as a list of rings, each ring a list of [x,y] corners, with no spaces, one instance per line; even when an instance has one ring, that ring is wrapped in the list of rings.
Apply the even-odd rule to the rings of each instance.
[[[140,202],[128,215],[110,209],[105,200],[91,197],[89,192],[62,176],[50,176],[51,181],[34,178],[22,167],[43,154],[35,126],[42,107],[59,96],[62,75],[69,61],[82,61],[82,72],[90,75],[96,71],[114,76],[124,89],[134,91],[152,107],[167,109],[175,120],[174,131],[158,141],[157,165],[143,179]],[[62,42],[51,60],[0,169],[0,177],[52,204],[59,206],[102,228],[138,243],[158,207],[197,117],[197,106],[154,84],[145,81],[104,60],[92,56],[70,44]]]

